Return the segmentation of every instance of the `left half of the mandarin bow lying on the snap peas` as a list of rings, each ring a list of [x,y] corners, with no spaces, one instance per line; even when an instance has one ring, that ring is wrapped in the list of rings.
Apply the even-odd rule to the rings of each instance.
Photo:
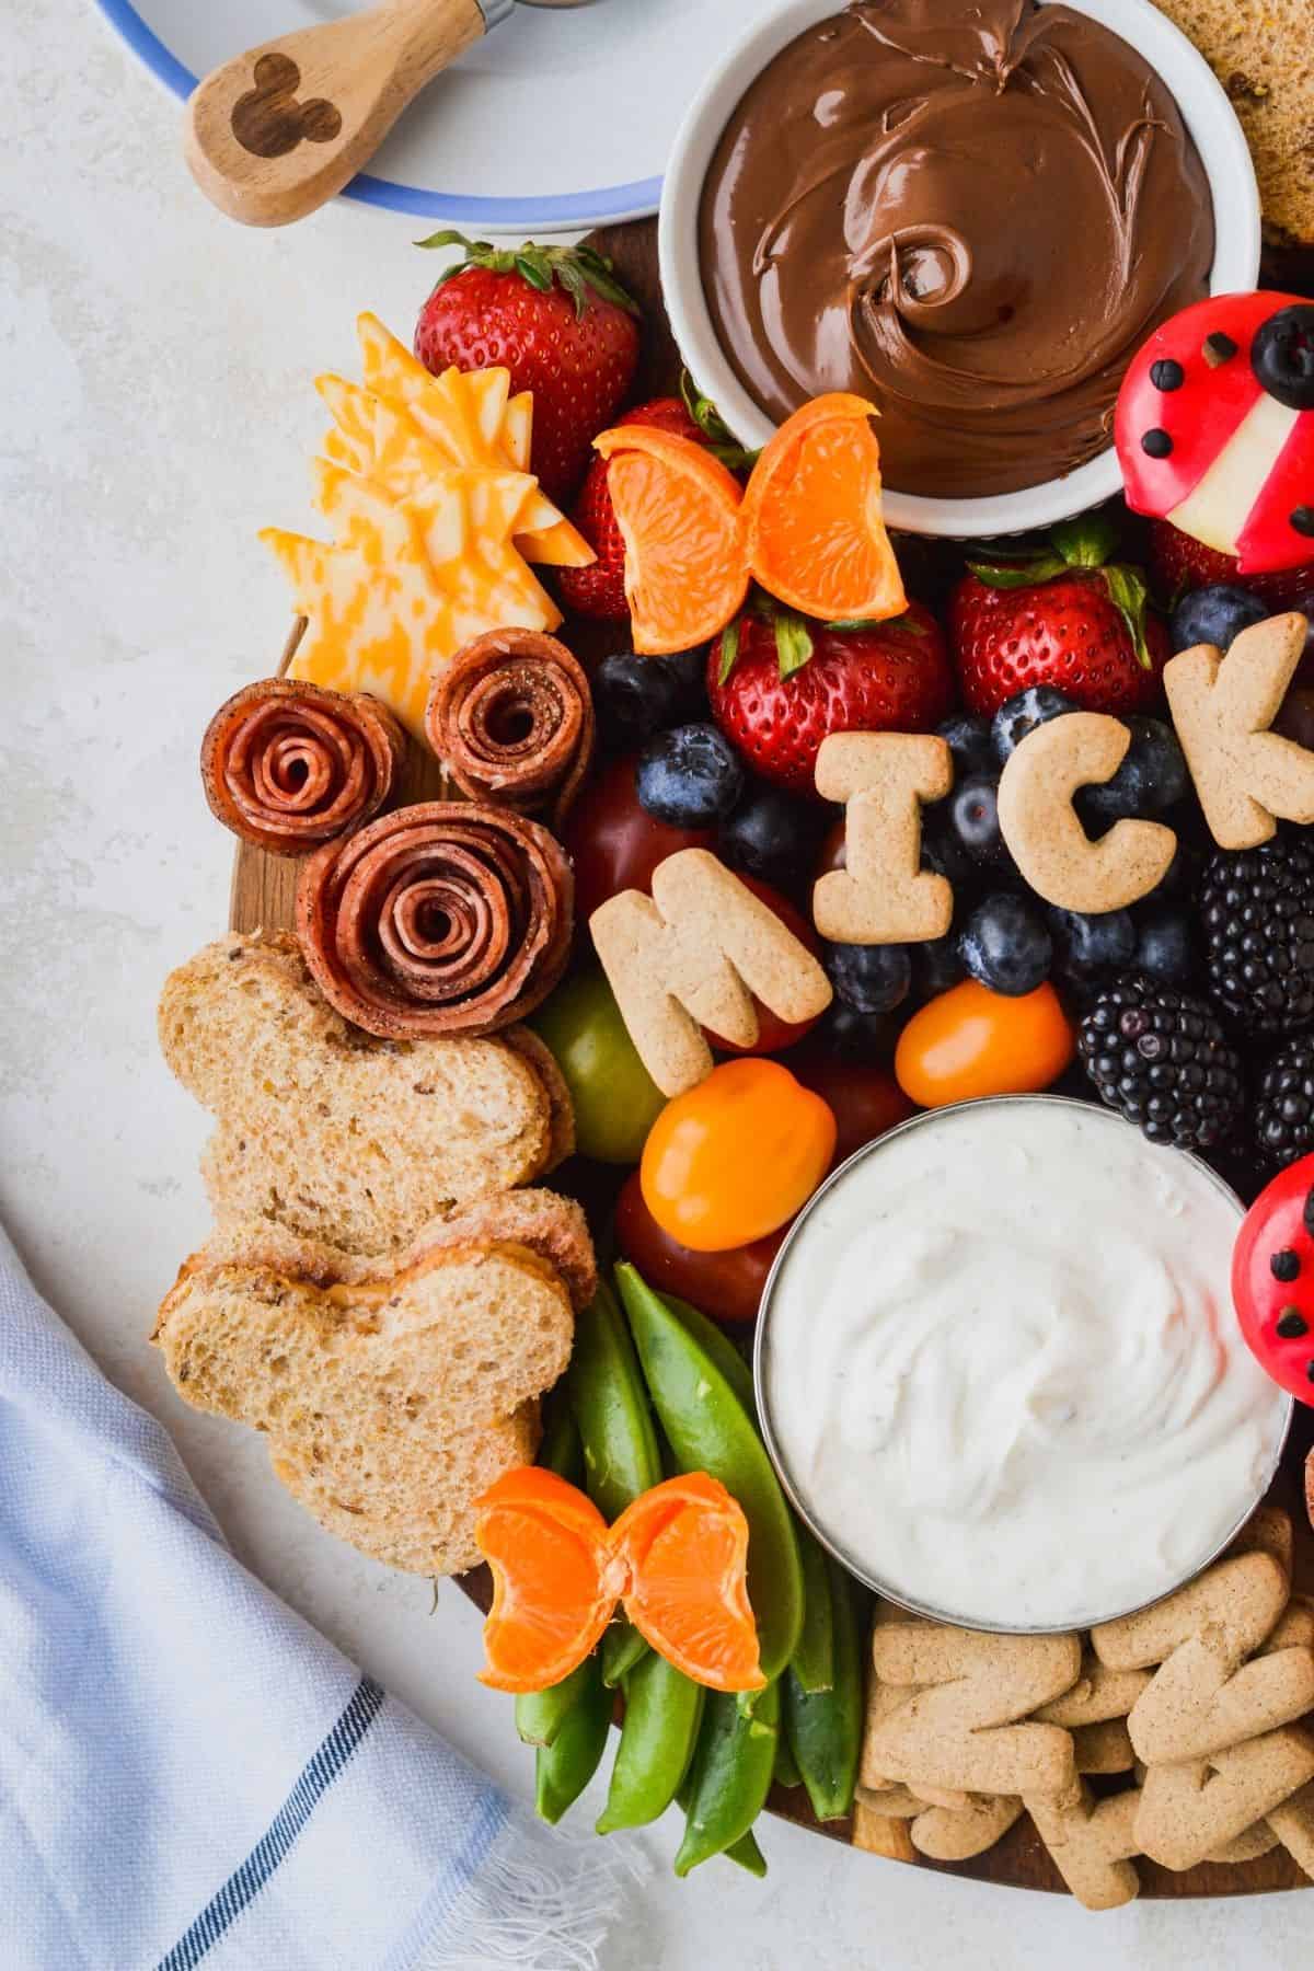
[[[475,1539],[493,1569],[479,1681],[546,1691],[601,1640],[623,1587],[607,1522],[577,1486],[526,1464],[479,1500]]]

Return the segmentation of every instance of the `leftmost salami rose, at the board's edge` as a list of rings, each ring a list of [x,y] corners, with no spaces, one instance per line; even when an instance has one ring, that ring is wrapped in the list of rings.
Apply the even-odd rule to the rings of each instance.
[[[201,781],[215,816],[274,855],[309,855],[378,814],[406,737],[364,692],[262,678],[205,729]]]

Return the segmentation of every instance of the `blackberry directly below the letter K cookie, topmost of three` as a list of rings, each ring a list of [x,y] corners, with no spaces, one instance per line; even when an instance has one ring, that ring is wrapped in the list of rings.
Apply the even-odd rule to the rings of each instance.
[[[1219,850],[1200,883],[1210,993],[1243,1033],[1314,1025],[1314,846],[1286,832]]]

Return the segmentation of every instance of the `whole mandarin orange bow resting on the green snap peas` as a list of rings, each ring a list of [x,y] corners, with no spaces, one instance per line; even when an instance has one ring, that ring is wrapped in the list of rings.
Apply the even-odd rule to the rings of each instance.
[[[707,1472],[640,1494],[609,1529],[556,1472],[526,1464],[485,1492],[475,1526],[493,1569],[481,1683],[544,1691],[597,1648],[617,1602],[660,1656],[713,1691],[758,1691],[749,1522]]]

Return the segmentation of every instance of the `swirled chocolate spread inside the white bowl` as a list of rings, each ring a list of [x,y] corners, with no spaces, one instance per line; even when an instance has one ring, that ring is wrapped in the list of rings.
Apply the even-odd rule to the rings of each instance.
[[[735,108],[699,254],[762,410],[857,390],[890,487],[981,497],[1109,443],[1131,357],[1208,292],[1214,205],[1172,95],[1099,22],[855,0]]]

